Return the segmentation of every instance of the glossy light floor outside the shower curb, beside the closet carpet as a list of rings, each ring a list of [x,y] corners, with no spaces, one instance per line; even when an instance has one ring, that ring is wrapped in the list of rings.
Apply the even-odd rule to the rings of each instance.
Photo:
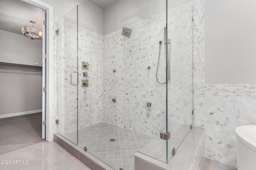
[[[1,164],[4,160],[10,164]],[[55,142],[41,142],[2,154],[0,161],[0,170],[90,170]]]

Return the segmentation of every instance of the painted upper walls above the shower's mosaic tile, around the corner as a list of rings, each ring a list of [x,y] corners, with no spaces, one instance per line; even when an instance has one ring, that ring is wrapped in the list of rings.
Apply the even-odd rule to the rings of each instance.
[[[88,0],[42,0],[54,9],[54,16],[76,18],[70,11],[79,5],[79,26],[100,35],[106,35],[124,26],[145,20],[166,11],[166,0],[119,0],[103,10]],[[169,0],[168,8],[174,8],[190,0]],[[132,10],[131,10],[132,9]]]

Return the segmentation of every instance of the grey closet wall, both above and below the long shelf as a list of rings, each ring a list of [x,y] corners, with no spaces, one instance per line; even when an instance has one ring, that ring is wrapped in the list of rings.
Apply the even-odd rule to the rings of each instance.
[[[42,63],[42,41],[0,30],[0,61]],[[0,115],[42,109],[41,69],[0,65]]]

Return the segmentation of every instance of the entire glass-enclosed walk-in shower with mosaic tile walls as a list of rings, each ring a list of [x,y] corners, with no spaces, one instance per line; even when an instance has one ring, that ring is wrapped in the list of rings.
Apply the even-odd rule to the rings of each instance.
[[[116,170],[168,163],[193,125],[196,1],[92,2],[56,23],[57,131]]]

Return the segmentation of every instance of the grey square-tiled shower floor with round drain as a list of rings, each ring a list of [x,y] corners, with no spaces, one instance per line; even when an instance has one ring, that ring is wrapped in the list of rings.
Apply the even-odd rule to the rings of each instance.
[[[76,132],[66,136],[72,136],[73,133]],[[86,147],[90,154],[116,170],[134,170],[134,154],[152,139],[108,123],[97,123],[78,130],[78,146]]]

